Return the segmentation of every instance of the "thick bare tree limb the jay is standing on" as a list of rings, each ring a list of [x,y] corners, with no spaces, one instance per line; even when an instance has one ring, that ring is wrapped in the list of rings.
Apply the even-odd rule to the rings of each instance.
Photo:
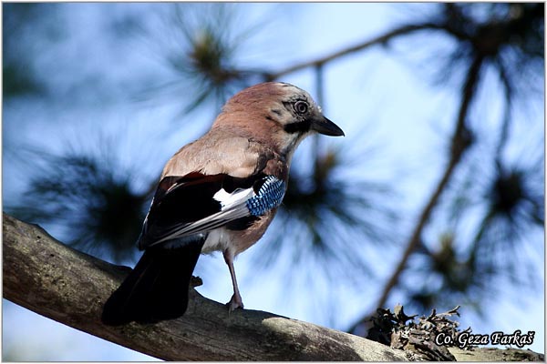
[[[102,305],[129,268],[67,248],[4,214],[4,297],[72,328],[169,360],[405,360],[375,341],[263,311],[236,310],[194,289],[181,319],[108,327]]]

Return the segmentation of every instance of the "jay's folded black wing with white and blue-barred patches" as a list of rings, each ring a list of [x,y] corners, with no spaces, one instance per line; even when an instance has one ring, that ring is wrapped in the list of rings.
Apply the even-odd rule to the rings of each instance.
[[[274,207],[284,197],[284,180],[262,172],[251,177],[192,172],[164,177],[152,200],[139,238],[149,248],[174,238],[196,237],[217,227],[241,226]]]

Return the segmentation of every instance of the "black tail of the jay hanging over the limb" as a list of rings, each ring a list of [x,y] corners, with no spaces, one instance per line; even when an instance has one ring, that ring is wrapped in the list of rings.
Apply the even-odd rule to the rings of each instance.
[[[154,323],[181,317],[202,243],[180,248],[149,248],[121,286],[108,298],[102,313],[107,325],[131,321]]]

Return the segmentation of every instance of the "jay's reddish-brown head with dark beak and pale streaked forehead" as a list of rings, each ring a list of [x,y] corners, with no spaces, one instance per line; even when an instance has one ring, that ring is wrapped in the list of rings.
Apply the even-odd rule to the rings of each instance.
[[[213,128],[271,143],[284,155],[291,155],[312,133],[344,136],[340,127],[323,116],[312,96],[281,82],[251,86],[233,96]]]

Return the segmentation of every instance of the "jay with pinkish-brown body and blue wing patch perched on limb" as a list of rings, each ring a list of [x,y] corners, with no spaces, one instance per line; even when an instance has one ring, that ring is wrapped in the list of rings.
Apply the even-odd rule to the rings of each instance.
[[[138,238],[137,265],[106,301],[107,325],[181,317],[201,254],[221,251],[228,311],[243,308],[234,258],[264,234],[283,201],[294,150],[313,134],[344,136],[312,96],[265,82],[232,96],[211,129],[167,162]]]

